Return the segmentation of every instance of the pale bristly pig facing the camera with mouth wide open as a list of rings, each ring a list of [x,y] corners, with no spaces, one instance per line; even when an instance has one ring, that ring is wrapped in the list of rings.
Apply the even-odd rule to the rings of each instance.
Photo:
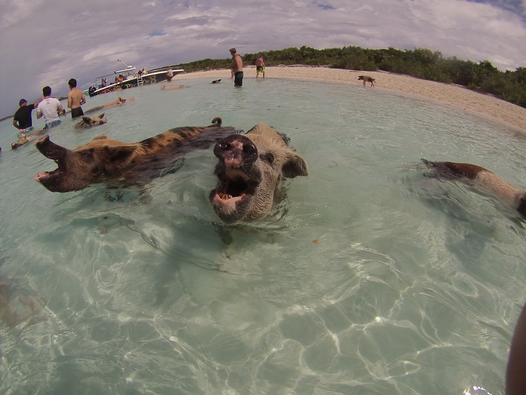
[[[309,174],[305,160],[286,140],[270,126],[258,123],[245,135],[231,135],[216,144],[219,163],[214,174],[219,181],[209,200],[222,221],[264,217],[284,178]]]

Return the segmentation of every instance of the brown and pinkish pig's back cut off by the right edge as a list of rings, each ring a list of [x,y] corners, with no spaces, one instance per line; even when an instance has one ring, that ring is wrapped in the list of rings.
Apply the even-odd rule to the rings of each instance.
[[[429,176],[438,179],[459,179],[489,193],[526,218],[526,190],[520,190],[484,167],[470,163],[430,162],[421,160],[432,172]]]

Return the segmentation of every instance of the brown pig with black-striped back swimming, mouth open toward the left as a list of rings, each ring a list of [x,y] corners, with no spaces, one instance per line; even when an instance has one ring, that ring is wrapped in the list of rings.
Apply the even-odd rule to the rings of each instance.
[[[74,150],[53,143],[46,135],[35,145],[58,168],[38,173],[35,180],[51,192],[78,191],[100,182],[148,182],[160,176],[181,155],[208,148],[238,132],[233,127],[221,127],[219,117],[212,123],[203,127],[176,127],[138,143],[122,143],[101,135]]]

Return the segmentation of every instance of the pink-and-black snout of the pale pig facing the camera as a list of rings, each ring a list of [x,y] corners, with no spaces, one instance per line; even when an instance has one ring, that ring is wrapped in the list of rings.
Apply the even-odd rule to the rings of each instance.
[[[258,149],[248,137],[232,134],[215,145],[214,155],[225,166],[239,169],[241,166],[249,167],[258,159]]]

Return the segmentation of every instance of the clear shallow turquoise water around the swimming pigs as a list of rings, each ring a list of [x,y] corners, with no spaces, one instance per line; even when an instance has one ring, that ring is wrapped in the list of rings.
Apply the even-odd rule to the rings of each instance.
[[[267,122],[311,174],[287,182],[271,216],[235,227],[208,204],[210,150],[142,198],[100,184],[58,194],[33,181],[53,161],[11,151],[16,130],[0,123],[0,276],[17,311],[21,293],[46,302],[44,321],[0,327],[0,392],[502,394],[524,222],[417,162],[476,163],[524,187],[526,139],[378,88],[225,80],[123,91],[135,100],[107,109],[106,125],[79,132],[66,117],[50,138],[73,148],[215,116]]]

